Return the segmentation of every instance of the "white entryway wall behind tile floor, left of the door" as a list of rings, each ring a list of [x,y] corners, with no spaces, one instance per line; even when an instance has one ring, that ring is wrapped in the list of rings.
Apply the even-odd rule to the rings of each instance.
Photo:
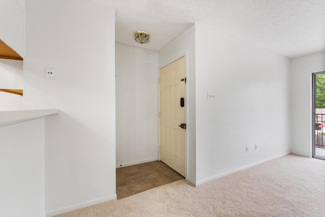
[[[116,166],[158,159],[158,52],[115,44]]]

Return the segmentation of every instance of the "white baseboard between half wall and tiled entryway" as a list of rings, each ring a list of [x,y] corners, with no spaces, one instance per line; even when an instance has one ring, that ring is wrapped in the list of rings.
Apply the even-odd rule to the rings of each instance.
[[[66,213],[66,212],[71,212],[71,211],[76,210],[76,209],[81,209],[81,208],[84,208],[84,207],[87,207],[87,206],[92,206],[92,205],[95,205],[95,204],[104,203],[104,202],[111,201],[111,200],[116,200],[116,194],[113,194],[113,195],[110,195],[110,196],[107,196],[107,197],[103,197],[103,198],[89,200],[89,201],[74,204],[74,205],[71,205],[71,206],[66,206],[66,207],[50,210],[50,211],[45,213],[45,216],[46,217],[56,216],[56,215],[63,214],[63,213]]]

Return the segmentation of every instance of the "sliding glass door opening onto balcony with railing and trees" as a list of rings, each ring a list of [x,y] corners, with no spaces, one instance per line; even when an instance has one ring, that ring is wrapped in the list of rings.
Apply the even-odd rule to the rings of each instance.
[[[313,157],[325,160],[325,71],[313,74]]]

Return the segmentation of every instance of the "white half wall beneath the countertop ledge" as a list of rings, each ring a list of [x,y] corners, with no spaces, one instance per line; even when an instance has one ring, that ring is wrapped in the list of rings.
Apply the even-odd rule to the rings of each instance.
[[[44,118],[0,126],[0,215],[44,216]]]

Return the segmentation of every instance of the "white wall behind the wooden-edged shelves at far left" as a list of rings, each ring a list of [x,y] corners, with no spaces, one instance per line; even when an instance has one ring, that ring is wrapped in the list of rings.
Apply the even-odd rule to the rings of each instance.
[[[22,89],[22,61],[0,59],[0,89]],[[22,96],[0,92],[0,111],[22,109]]]

